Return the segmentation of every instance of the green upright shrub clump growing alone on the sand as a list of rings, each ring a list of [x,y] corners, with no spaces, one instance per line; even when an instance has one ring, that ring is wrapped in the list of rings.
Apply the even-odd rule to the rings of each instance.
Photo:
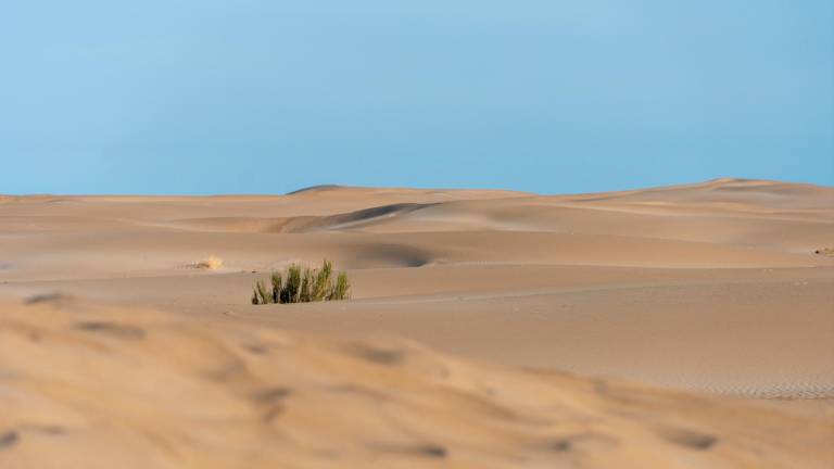
[[[252,304],[311,303],[350,297],[348,274],[336,274],[333,264],[328,259],[317,269],[292,264],[283,272],[273,272],[269,286],[264,280],[255,282],[252,291]]]

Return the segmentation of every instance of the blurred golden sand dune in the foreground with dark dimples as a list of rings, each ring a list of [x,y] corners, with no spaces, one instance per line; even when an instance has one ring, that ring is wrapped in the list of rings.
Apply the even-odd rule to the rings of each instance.
[[[0,467],[826,468],[831,414],[66,297],[2,305]]]

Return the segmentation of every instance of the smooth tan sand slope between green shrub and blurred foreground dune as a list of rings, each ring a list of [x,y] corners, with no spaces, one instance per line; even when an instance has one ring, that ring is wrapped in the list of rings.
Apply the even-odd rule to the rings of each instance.
[[[834,396],[832,292],[830,278],[703,280],[252,307],[233,315],[316,332],[372,330],[505,364],[678,389],[820,398]]]

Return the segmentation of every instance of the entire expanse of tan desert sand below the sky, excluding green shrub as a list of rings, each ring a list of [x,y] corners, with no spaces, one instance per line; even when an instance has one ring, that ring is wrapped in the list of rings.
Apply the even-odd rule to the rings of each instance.
[[[831,248],[778,181],[0,197],[0,467],[830,468]]]

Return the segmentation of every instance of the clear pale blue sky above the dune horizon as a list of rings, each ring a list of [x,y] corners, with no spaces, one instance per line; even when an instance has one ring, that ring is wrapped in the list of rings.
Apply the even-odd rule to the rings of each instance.
[[[834,186],[834,1],[0,1],[0,193],[720,176]]]

